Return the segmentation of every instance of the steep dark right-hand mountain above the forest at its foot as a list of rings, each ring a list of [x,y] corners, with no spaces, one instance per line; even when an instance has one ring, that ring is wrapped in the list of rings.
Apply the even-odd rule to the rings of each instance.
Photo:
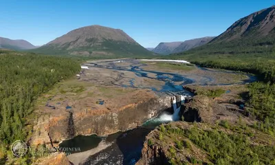
[[[272,57],[275,52],[275,6],[254,12],[233,23],[208,44],[188,52],[173,54],[174,58],[206,60],[232,57]],[[238,55],[238,56],[236,56]],[[273,55],[274,56],[274,55]]]

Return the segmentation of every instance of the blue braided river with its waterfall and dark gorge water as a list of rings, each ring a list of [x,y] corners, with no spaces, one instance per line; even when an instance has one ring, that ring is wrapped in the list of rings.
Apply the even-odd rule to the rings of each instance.
[[[133,88],[142,88],[142,89],[151,89],[158,94],[167,94],[169,96],[172,95],[182,95],[184,97],[190,97],[192,94],[186,91],[183,88],[183,85],[192,84],[194,80],[190,78],[186,78],[180,74],[174,73],[166,73],[166,72],[157,72],[157,71],[148,71],[141,69],[145,64],[141,64],[139,61],[128,60],[131,61],[131,65],[129,66],[121,66],[116,65],[117,63],[123,63],[124,61],[104,61],[101,64],[98,63],[87,63],[85,67],[96,67],[96,68],[105,68],[105,69],[113,69],[118,71],[128,71],[133,72],[137,77],[151,78],[159,81],[163,81],[165,84],[160,87],[160,89],[156,89],[154,87],[136,87],[135,79],[129,80],[129,85],[120,84],[121,87],[133,87]],[[105,63],[105,65],[104,65]],[[106,65],[107,64],[107,65]],[[205,69],[205,68],[199,68]],[[227,72],[220,70],[210,70],[210,72]],[[228,71],[229,72],[229,71]],[[155,75],[155,76],[152,76]],[[239,73],[236,73],[239,74]],[[243,74],[243,73],[241,73]],[[243,83],[250,83],[256,78],[254,76],[248,76],[249,79],[243,81]],[[210,78],[208,78],[210,79]],[[204,85],[204,84],[201,84]],[[230,84],[228,84],[230,85]],[[180,103],[177,103],[180,104]],[[171,104],[172,107],[172,104]],[[178,112],[177,112],[178,113]],[[174,114],[174,116],[177,114]],[[89,136],[77,136],[71,140],[63,141],[59,146],[60,147],[80,147],[81,152],[87,152],[96,150],[99,147],[99,144],[104,147],[102,150],[96,152],[94,155],[89,155],[89,158],[86,159],[85,162],[81,164],[125,164],[132,165],[135,164],[141,157],[142,147],[145,140],[146,135],[150,133],[156,126],[159,124],[171,122],[173,120],[178,120],[173,118],[173,113],[169,113],[168,111],[163,111],[155,118],[151,118],[135,129],[118,132],[112,135],[108,135],[107,137],[98,137],[96,135]],[[108,144],[108,145],[107,145]]]

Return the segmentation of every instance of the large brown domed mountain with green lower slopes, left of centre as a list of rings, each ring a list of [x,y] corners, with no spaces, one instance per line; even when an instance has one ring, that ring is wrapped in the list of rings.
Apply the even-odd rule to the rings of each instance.
[[[34,52],[85,56],[152,56],[120,29],[91,25],[72,30]]]

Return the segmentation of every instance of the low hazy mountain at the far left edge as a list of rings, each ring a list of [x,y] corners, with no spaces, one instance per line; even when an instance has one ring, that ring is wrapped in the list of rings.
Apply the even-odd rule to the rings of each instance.
[[[9,50],[30,50],[36,47],[25,40],[11,40],[0,37],[0,48]]]

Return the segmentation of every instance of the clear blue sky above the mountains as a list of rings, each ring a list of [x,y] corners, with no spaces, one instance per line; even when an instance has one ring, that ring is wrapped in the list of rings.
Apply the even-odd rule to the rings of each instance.
[[[87,25],[124,30],[144,47],[217,36],[274,0],[0,0],[0,36],[43,45]]]

